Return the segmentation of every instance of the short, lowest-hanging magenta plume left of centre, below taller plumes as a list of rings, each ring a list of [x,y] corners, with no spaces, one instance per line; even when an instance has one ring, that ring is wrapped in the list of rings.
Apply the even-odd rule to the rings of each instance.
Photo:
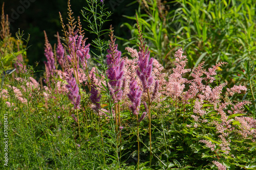
[[[70,76],[69,78],[67,78],[67,82],[68,84],[66,85],[66,87],[69,90],[69,100],[74,104],[74,108],[78,109],[80,105],[81,96],[79,95],[79,87],[76,84],[76,79]]]

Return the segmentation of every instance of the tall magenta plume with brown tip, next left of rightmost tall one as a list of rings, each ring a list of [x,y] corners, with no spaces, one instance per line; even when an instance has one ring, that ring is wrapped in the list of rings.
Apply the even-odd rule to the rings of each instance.
[[[113,35],[112,27],[111,29],[111,42],[110,49],[107,50],[108,55],[106,55],[106,63],[108,64],[108,78],[110,79],[111,94],[114,101],[120,101],[124,86],[125,79],[123,78],[123,67],[124,62],[121,61],[121,52],[117,50],[117,44],[115,44],[115,36]]]

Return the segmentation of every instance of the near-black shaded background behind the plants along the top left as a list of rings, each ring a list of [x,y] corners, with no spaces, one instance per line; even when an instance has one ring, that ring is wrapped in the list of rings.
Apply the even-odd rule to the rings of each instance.
[[[31,46],[27,52],[29,59],[28,64],[35,66],[35,62],[39,62],[35,70],[44,70],[43,61],[46,60],[44,56],[44,30],[53,46],[54,43],[57,42],[57,38],[55,37],[56,32],[58,31],[60,35],[62,35],[59,12],[63,19],[65,19],[65,23],[67,23],[68,0],[0,0],[1,7],[3,2],[5,2],[5,14],[9,15],[12,36],[15,37],[15,32],[17,32],[18,29],[24,31],[24,38],[27,38],[28,34],[30,34],[29,45]],[[112,20],[105,24],[105,29],[113,25],[116,36],[129,38],[129,30],[127,30],[127,28],[120,28],[120,25],[124,21],[126,22],[126,18],[122,15],[135,15],[138,4],[133,3],[133,5],[129,5],[132,2],[134,1],[105,0],[104,4],[106,7],[109,8],[109,11],[113,12],[111,16]],[[82,19],[80,11],[86,5],[85,0],[71,0],[71,8],[74,12],[73,16],[77,17],[79,15]],[[128,22],[134,21],[128,20]],[[82,21],[82,26],[86,28],[86,22]],[[92,35],[86,33],[86,37],[89,38],[88,42],[90,43],[93,38]],[[120,43],[119,48],[122,49]],[[40,75],[41,74],[42,72],[40,72]]]

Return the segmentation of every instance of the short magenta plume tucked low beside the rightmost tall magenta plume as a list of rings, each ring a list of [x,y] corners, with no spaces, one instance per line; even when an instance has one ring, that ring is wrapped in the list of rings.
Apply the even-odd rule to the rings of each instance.
[[[132,105],[130,105],[130,109],[132,110],[133,114],[139,114],[139,106],[141,102],[141,94],[142,91],[140,90],[139,86],[135,79],[133,79],[130,83],[130,93],[127,94]]]

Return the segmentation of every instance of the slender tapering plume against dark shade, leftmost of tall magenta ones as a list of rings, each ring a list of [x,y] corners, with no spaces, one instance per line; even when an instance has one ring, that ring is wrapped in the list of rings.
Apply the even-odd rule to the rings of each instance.
[[[47,61],[44,61],[46,67],[46,80],[49,81],[49,78],[53,76],[55,70],[55,59],[54,53],[52,51],[52,45],[49,43],[46,32],[45,33],[45,56]]]

